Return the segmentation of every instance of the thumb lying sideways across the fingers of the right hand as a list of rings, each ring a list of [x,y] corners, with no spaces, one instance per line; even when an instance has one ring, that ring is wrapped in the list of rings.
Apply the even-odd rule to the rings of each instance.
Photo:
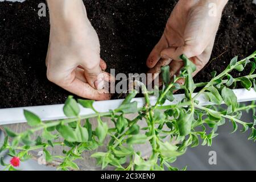
[[[181,46],[181,47],[169,47],[167,49],[164,49],[161,52],[161,57],[163,59],[172,59],[176,61],[180,61],[181,55],[186,55],[188,58],[196,56],[189,46]]]

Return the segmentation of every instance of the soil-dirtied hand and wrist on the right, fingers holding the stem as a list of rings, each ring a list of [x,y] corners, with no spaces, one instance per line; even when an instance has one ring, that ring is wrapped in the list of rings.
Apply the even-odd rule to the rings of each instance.
[[[220,24],[222,10],[228,0],[180,0],[172,11],[163,36],[147,59],[153,80],[160,68],[170,65],[170,76],[179,74],[184,54],[196,64],[195,76],[208,63]],[[210,3],[216,5],[210,14]],[[212,7],[214,8],[214,7]],[[215,14],[214,14],[215,13]],[[183,81],[179,82],[183,84]]]

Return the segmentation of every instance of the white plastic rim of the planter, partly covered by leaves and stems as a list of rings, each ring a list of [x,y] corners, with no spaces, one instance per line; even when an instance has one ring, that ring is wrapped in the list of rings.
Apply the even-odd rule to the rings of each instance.
[[[246,102],[246,101],[254,101],[256,100],[256,92],[254,89],[246,90],[246,89],[236,89],[234,93],[237,96],[238,102]],[[183,100],[184,94],[176,94],[175,100],[173,102],[167,101],[164,105],[176,104],[177,102]],[[202,94],[197,98],[200,101],[200,105],[211,105],[208,99]],[[94,102],[94,108],[100,112],[107,112],[109,110],[117,109],[119,105],[121,105],[123,100],[110,100],[110,101],[97,101]],[[138,102],[138,107],[142,107],[144,105],[144,98],[134,98],[133,101]],[[150,102],[152,105],[156,103],[156,98],[151,97]],[[26,119],[23,115],[23,110],[29,110],[32,113],[37,114],[42,121],[50,121],[56,119],[64,119],[66,118],[63,113],[63,104],[60,105],[46,105],[46,106],[32,106],[32,107],[17,107],[10,109],[0,109],[0,125],[9,125],[14,123],[24,123]],[[81,115],[92,114],[94,111],[91,109],[85,109],[81,107]]]

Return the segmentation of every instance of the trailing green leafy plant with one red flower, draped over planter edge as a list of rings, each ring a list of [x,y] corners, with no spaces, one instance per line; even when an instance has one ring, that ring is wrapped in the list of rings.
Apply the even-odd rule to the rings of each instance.
[[[184,61],[184,68],[181,69],[179,76],[170,79],[170,69],[162,68],[162,89],[155,87],[153,91],[148,91],[145,85],[136,82],[146,102],[141,108],[133,101],[138,92],[132,90],[117,109],[105,113],[99,113],[94,109],[94,101],[76,101],[72,96],[68,97],[63,107],[68,119],[42,122],[37,115],[24,110],[24,116],[31,129],[23,133],[5,129],[7,136],[0,152],[7,151],[13,159],[10,163],[1,159],[1,166],[5,166],[6,170],[16,170],[19,162],[32,157],[31,151],[43,150],[47,162],[56,159],[61,161],[57,169],[79,170],[75,160],[81,159],[83,152],[96,151],[104,145],[106,138],[110,138],[105,152],[92,154],[92,158],[96,158],[102,169],[112,166],[116,170],[176,171],[178,169],[171,166],[171,163],[183,155],[188,147],[198,146],[200,139],[202,145],[211,146],[213,138],[218,135],[218,127],[224,125],[226,120],[232,122],[233,133],[240,125],[241,131],[250,132],[249,139],[255,142],[256,117],[252,122],[244,122],[241,115],[242,111],[254,110],[256,105],[238,104],[236,94],[230,88],[236,87],[240,82],[247,90],[256,89],[256,52],[240,61],[238,57],[234,57],[223,72],[212,72],[212,80],[197,84],[192,78],[192,73],[196,70],[195,65],[185,55],[181,55],[180,58]],[[248,65],[251,71],[247,76],[232,77],[232,71],[242,72]],[[183,86],[177,84],[180,79],[185,80]],[[199,89],[196,94],[195,89]],[[184,100],[166,105],[166,101],[174,101],[175,90],[184,91]],[[205,94],[213,105],[200,105],[197,98],[201,94]],[[158,95],[155,105],[150,103],[151,95]],[[225,108],[221,106],[223,103],[226,105]],[[94,114],[80,115],[79,105],[94,110]],[[137,114],[137,117],[126,118],[126,114],[131,113]],[[104,117],[111,118],[115,127],[108,126],[102,119]],[[91,118],[97,118],[96,129],[92,128]],[[139,121],[145,122],[146,127],[141,128],[138,125]],[[42,131],[42,134],[38,135],[35,141],[32,140],[32,135],[38,131]],[[147,159],[143,158],[140,151],[134,150],[134,145],[146,142],[151,144],[152,151]],[[65,147],[63,155],[55,156],[49,152],[50,147],[56,146]]]

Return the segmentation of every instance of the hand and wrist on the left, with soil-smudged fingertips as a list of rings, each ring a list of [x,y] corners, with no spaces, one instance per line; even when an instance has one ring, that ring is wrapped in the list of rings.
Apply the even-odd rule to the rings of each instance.
[[[46,59],[48,80],[80,97],[109,100],[108,90],[102,87],[110,75],[103,72],[106,63],[100,59],[98,36],[84,4],[81,0],[48,0],[48,6],[51,18]]]

